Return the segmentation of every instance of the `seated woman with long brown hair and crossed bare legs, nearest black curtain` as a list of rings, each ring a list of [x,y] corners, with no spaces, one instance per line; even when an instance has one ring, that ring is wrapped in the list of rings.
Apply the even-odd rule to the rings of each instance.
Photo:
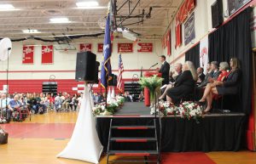
[[[230,59],[230,67],[231,71],[226,76],[226,81],[222,82],[222,79],[219,79],[220,81],[213,82],[211,84],[207,85],[207,88],[205,89],[203,97],[199,100],[199,102],[204,103],[207,100],[207,108],[204,110],[205,112],[208,112],[212,109],[212,94],[236,94],[237,88],[239,85],[240,80],[240,65],[239,61],[236,58]],[[221,76],[221,75],[220,75]]]

